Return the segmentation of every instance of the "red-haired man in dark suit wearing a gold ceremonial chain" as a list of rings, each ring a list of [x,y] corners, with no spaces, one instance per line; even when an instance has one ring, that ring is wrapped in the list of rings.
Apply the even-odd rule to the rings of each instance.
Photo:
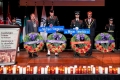
[[[87,29],[90,29],[90,34],[88,35],[91,39],[91,47],[90,50],[86,53],[86,56],[91,56],[92,55],[92,49],[93,49],[93,41],[94,41],[94,36],[95,36],[95,29],[96,29],[96,19],[92,18],[92,12],[88,11],[87,12],[88,18],[85,19],[85,27]]]

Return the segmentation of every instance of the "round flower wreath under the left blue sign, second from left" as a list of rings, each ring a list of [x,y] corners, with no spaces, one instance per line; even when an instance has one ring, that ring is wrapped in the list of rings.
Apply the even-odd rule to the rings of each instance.
[[[53,33],[48,36],[46,46],[53,53],[60,53],[66,48],[66,37],[61,33]]]

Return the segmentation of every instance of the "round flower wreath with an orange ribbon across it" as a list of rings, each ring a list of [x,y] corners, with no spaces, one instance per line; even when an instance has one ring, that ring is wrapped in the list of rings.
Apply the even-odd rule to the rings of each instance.
[[[75,34],[71,38],[71,48],[79,54],[86,53],[90,46],[90,38],[86,34]]]

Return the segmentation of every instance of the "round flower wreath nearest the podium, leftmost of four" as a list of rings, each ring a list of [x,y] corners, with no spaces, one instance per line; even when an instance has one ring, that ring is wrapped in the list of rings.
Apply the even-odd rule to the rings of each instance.
[[[42,50],[44,41],[39,33],[29,33],[24,38],[24,48],[31,53]]]

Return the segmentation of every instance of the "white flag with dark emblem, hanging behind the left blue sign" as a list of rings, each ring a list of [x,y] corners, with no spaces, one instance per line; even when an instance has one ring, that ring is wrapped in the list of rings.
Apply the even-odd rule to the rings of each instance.
[[[43,6],[40,27],[45,27],[46,26],[46,18],[47,17],[46,17],[45,6]],[[47,33],[46,32],[40,32],[40,34],[43,37],[44,41],[46,41],[47,40]]]

